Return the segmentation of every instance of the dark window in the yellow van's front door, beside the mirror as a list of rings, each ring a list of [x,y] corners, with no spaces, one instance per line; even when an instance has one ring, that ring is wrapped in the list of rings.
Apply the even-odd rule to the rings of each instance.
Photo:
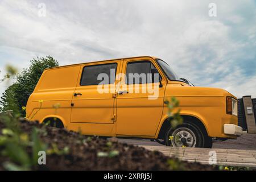
[[[125,84],[146,84],[151,83],[148,74],[151,68],[155,68],[151,61],[135,61],[127,63]]]

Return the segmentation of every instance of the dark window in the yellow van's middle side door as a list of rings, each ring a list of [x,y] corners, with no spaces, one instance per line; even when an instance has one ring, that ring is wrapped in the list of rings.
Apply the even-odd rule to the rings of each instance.
[[[115,82],[116,71],[117,71],[117,63],[85,66],[82,71],[82,78],[80,81],[80,85],[85,86],[85,85],[113,84]]]

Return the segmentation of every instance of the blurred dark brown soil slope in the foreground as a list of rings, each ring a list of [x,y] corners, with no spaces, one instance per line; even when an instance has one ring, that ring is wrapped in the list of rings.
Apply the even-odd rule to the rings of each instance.
[[[46,165],[38,165],[32,169],[39,170],[213,170],[218,169],[204,166],[200,163],[180,162],[164,156],[160,152],[152,152],[143,147],[119,143],[117,139],[110,140],[85,137],[79,133],[57,129],[55,127],[40,125],[35,122],[18,122],[23,133],[31,135],[33,127],[41,130],[40,139],[48,144],[49,148],[55,146],[55,151],[68,147],[68,153],[53,152],[47,154]],[[0,137],[2,129],[6,126],[0,121]],[[4,150],[0,145],[0,170],[10,158],[2,154]],[[15,150],[15,149],[14,149]],[[27,147],[31,155],[31,147]],[[59,153],[59,154],[58,154]]]

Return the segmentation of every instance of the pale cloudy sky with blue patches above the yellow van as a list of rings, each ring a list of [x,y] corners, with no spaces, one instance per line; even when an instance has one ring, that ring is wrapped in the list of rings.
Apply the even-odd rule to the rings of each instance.
[[[66,65],[152,55],[197,86],[256,97],[255,0],[0,0],[0,13],[0,77],[36,56]]]

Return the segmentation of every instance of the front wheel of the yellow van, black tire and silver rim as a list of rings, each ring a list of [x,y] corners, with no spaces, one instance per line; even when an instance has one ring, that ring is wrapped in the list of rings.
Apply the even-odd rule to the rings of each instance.
[[[170,140],[171,136],[173,139]],[[207,142],[205,139],[208,139]],[[199,127],[192,125],[191,123],[184,122],[175,129],[170,127],[166,132],[165,140],[166,146],[209,147],[211,138],[206,138]]]

